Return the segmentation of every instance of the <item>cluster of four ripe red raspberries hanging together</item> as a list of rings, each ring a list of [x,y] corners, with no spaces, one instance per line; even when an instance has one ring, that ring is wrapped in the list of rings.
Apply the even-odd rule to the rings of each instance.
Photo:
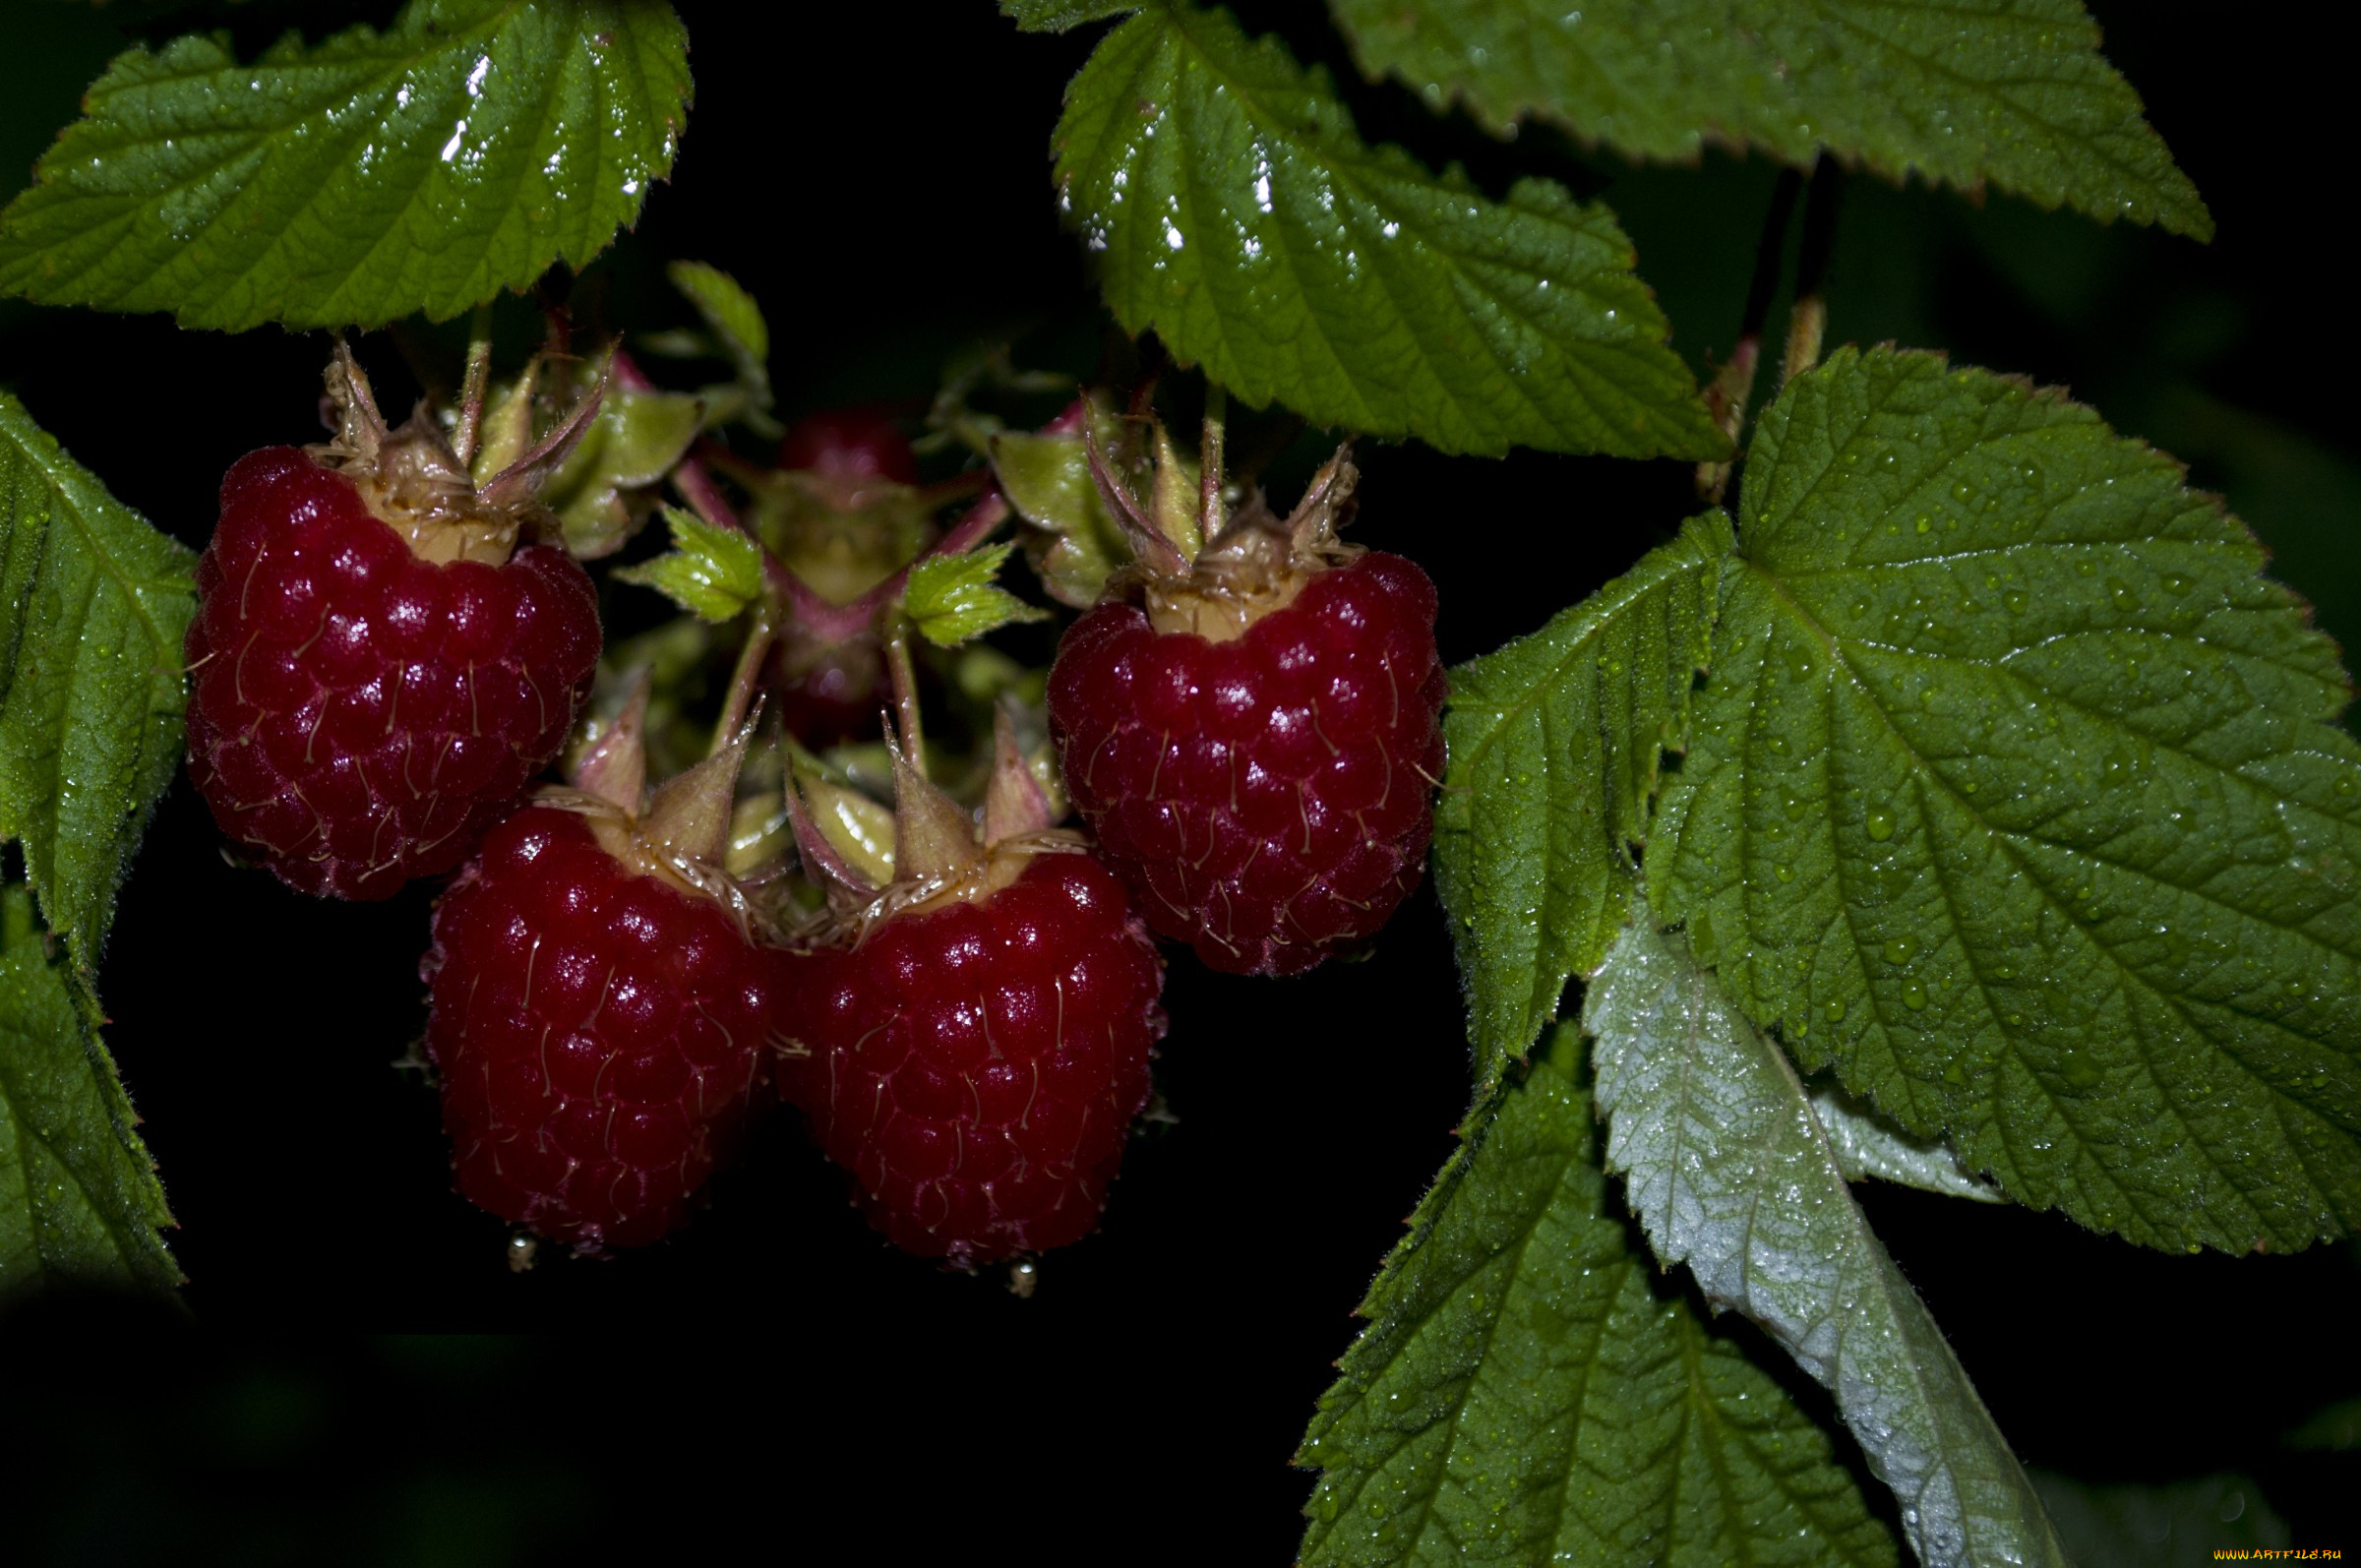
[[[890,427],[822,430],[803,468],[907,465]],[[425,1046],[460,1193],[534,1235],[671,1233],[784,1098],[907,1252],[975,1266],[1074,1242],[1150,1096],[1152,937],[1299,973],[1421,874],[1433,586],[1325,529],[1287,555],[1265,517],[1244,579],[1216,545],[1065,635],[1048,711],[1084,852],[1034,834],[963,890],[897,883],[838,937],[786,945],[706,864],[718,841],[663,836],[635,770],[626,798],[536,793],[590,692],[590,579],[529,505],[503,541],[444,496],[472,534],[437,543],[361,446],[257,451],[222,484],[189,770],[222,831],[305,893],[453,874]]]

